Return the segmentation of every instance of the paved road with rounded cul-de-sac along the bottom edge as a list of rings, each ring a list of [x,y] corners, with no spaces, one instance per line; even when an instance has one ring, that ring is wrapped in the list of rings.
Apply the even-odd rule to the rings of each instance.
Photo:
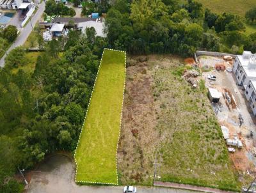
[[[122,193],[123,187],[76,185],[74,161],[64,155],[45,160],[31,176],[28,193]],[[181,189],[137,187],[138,193],[195,193]]]

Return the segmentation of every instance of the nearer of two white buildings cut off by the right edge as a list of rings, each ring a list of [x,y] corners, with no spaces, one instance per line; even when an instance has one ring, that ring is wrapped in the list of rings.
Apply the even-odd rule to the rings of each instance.
[[[256,115],[256,81],[249,81],[248,86],[244,91],[244,95],[249,102],[249,105]]]

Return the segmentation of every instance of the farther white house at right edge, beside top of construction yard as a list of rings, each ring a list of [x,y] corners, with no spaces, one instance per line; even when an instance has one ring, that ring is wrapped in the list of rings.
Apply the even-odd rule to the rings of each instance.
[[[256,81],[256,54],[244,51],[243,55],[236,56],[233,66],[238,85],[246,89],[250,80]]]

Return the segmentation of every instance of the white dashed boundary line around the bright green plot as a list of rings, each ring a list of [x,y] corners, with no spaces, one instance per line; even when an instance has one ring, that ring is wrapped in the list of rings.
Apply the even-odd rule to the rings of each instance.
[[[76,162],[76,150],[77,150],[77,147],[79,145],[79,142],[80,142],[80,139],[81,139],[81,134],[83,132],[83,128],[84,128],[84,122],[86,120],[86,116],[87,116],[87,112],[88,112],[88,109],[90,107],[90,103],[91,103],[91,99],[92,99],[92,94],[93,94],[93,91],[94,91],[94,88],[95,88],[95,83],[97,81],[97,77],[99,75],[99,70],[100,70],[100,66],[101,66],[101,63],[102,63],[102,58],[103,58],[103,55],[104,55],[104,51],[105,50],[113,50],[113,51],[116,51],[116,52],[124,52],[125,53],[125,72],[124,72],[124,90],[123,90],[123,100],[122,100],[122,109],[121,109],[121,115],[120,115],[120,127],[119,127],[119,134],[118,134],[118,141],[117,141],[117,144],[116,144],[116,183],[107,183],[107,182],[98,182],[98,181],[79,181],[79,180],[76,180],[76,176],[77,176],[77,162]],[[93,89],[92,89],[92,94],[90,96],[90,100],[89,100],[89,104],[88,104],[88,107],[87,107],[87,110],[86,110],[86,113],[85,113],[85,116],[84,116],[84,122],[83,122],[83,126],[81,128],[81,132],[79,134],[79,138],[78,138],[78,141],[77,141],[77,145],[76,145],[76,150],[75,150],[75,153],[74,153],[74,160],[76,162],[76,176],[75,176],[75,182],[76,183],[95,183],[95,184],[108,184],[108,185],[118,185],[118,173],[117,173],[117,151],[118,151],[118,143],[119,143],[119,139],[120,139],[120,132],[121,132],[121,123],[122,123],[122,114],[123,114],[123,103],[124,103],[124,91],[125,91],[125,81],[126,81],[126,52],[125,51],[122,51],[122,50],[115,50],[115,49],[104,49],[103,52],[102,52],[102,56],[101,56],[101,59],[100,59],[100,65],[99,65],[99,68],[98,68],[98,72],[97,72],[97,75],[96,75],[96,78],[95,78],[95,81],[94,81],[94,84],[93,84]]]

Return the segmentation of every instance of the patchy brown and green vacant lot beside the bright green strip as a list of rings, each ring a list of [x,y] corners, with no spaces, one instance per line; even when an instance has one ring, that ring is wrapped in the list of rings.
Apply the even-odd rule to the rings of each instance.
[[[128,59],[119,180],[151,185],[156,162],[159,181],[237,190],[204,82],[191,88],[182,63],[173,56]]]

